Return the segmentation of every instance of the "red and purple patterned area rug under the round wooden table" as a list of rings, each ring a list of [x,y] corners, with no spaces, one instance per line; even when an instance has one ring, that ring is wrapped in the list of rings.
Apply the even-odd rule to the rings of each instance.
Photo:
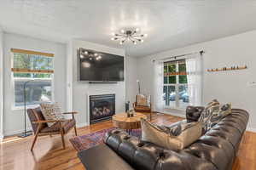
[[[103,143],[103,137],[105,133],[115,129],[115,127],[111,127],[108,129],[104,129],[101,131],[97,131],[95,133],[89,133],[82,136],[76,136],[73,139],[69,139],[71,144],[73,144],[74,149],[80,150],[87,150],[93,146]],[[141,129],[134,129],[131,131],[131,136],[137,136],[141,138],[142,130]]]

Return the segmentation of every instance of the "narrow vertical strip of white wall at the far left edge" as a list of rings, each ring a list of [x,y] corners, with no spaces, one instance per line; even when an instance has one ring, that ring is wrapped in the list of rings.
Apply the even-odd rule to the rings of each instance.
[[[3,139],[3,30],[0,27],[0,142]]]

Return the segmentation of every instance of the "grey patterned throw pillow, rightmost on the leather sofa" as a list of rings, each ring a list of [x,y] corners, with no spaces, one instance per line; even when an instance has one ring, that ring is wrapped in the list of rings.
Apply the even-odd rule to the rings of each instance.
[[[207,112],[210,112],[211,116],[206,123],[206,132],[220,122],[224,116],[228,116],[231,113],[231,104],[212,105],[212,107],[208,108]]]

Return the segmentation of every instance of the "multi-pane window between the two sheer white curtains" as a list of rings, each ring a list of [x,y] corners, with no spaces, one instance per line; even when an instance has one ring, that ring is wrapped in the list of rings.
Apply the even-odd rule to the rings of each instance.
[[[167,107],[184,109],[189,105],[185,60],[164,63],[164,101]]]

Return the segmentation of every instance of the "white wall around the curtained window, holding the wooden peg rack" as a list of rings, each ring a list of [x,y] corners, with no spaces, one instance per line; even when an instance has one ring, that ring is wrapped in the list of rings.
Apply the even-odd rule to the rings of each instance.
[[[256,82],[256,31],[232,37],[224,37],[210,42],[202,42],[185,48],[177,48],[160,54],[138,59],[139,79],[147,93],[153,92],[153,59],[166,58],[178,54],[205,50],[203,102],[218,99],[221,103],[231,102],[233,108],[245,109],[250,114],[248,127],[256,130],[256,88],[248,87],[248,82]],[[207,72],[210,68],[247,65],[247,70]]]

